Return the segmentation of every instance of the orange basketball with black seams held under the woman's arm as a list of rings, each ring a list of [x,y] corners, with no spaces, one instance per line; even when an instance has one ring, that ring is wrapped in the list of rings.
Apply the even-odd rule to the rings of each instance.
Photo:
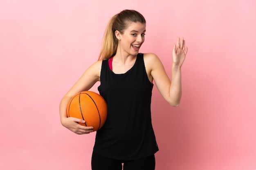
[[[107,103],[95,92],[84,91],[71,98],[67,105],[67,117],[85,120],[83,126],[93,126],[93,131],[101,129],[107,118]]]

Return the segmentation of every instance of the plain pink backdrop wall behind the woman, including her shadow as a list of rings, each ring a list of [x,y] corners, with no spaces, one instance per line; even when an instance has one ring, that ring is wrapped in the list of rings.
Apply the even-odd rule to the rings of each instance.
[[[180,107],[153,89],[156,170],[255,170],[255,0],[0,0],[0,169],[90,169],[95,133],[65,129],[58,106],[123,9],[168,75],[177,37],[189,46]]]

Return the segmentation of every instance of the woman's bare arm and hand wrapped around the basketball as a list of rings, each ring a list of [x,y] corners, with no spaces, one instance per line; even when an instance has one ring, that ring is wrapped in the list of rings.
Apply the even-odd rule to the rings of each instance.
[[[70,99],[77,93],[88,91],[97,81],[100,81],[102,61],[97,61],[91,65],[73,85],[73,87],[65,94],[60,103],[61,124],[76,134],[87,134],[92,132],[93,127],[83,126],[78,122],[84,123],[84,120],[78,118],[67,117],[67,104]]]

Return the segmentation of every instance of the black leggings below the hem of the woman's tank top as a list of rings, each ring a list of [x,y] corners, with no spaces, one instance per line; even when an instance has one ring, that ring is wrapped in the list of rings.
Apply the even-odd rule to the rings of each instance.
[[[92,170],[155,170],[155,155],[134,161],[121,161],[92,153]]]

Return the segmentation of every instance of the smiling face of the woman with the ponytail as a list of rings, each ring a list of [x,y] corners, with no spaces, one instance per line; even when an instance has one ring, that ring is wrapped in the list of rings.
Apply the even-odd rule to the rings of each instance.
[[[131,22],[123,34],[120,34],[119,46],[130,55],[137,55],[145,40],[146,24]]]

